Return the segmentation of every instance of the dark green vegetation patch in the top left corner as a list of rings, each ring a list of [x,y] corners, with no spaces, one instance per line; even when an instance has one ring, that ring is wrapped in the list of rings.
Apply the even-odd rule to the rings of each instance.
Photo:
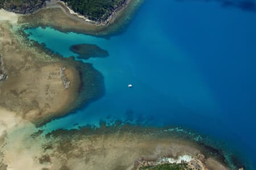
[[[0,0],[0,9],[27,14],[43,6],[46,0]]]

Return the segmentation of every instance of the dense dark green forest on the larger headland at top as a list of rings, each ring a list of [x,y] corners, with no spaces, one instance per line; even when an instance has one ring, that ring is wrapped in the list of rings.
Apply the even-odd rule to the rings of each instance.
[[[106,20],[108,16],[122,6],[126,0],[63,0],[75,12],[91,20]]]

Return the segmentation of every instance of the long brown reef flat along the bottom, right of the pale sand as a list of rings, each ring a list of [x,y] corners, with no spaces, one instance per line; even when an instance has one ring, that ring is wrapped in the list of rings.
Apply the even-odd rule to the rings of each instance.
[[[167,129],[166,129],[167,130]],[[46,169],[137,169],[141,163],[187,163],[197,169],[229,169],[206,147],[175,135],[174,131],[139,126],[83,127],[57,130],[45,137],[37,166]],[[36,161],[36,160],[35,160]],[[193,165],[192,165],[193,164]]]

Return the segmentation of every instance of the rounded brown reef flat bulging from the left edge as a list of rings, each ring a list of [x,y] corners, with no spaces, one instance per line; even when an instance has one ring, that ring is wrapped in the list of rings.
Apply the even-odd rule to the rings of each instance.
[[[21,44],[8,24],[1,24],[1,59],[8,78],[0,84],[0,106],[31,122],[68,109],[78,96],[79,72],[74,66]],[[71,81],[65,89],[59,68]]]

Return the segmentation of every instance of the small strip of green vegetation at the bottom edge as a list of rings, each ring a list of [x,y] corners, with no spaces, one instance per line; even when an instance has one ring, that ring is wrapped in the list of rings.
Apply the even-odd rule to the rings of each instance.
[[[187,170],[188,164],[181,163],[181,164],[160,164],[160,165],[148,165],[145,167],[140,167],[139,170]],[[190,170],[190,169],[188,169]]]

